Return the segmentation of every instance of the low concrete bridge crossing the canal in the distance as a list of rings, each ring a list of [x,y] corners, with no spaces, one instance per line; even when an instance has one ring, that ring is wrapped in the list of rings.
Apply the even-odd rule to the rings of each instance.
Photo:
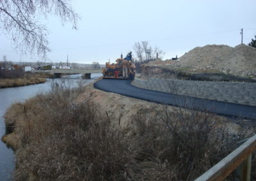
[[[51,69],[48,72],[53,74],[55,78],[72,74],[81,74],[83,78],[90,78],[91,73],[102,73],[102,69]]]

